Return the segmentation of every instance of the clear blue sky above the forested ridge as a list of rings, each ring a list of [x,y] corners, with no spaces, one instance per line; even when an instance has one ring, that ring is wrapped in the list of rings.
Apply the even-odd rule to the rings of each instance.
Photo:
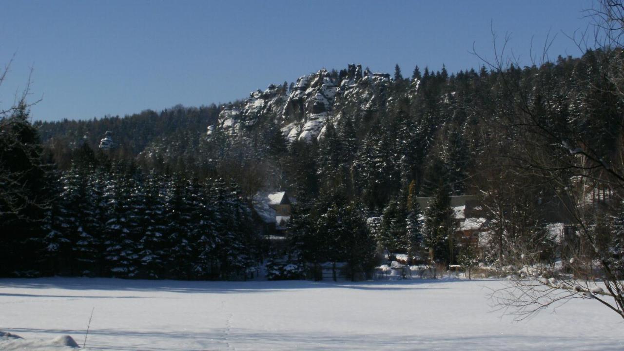
[[[410,76],[492,57],[490,22],[530,64],[530,42],[550,57],[579,56],[565,37],[585,30],[591,0],[520,1],[12,1],[0,0],[0,63],[15,54],[0,107],[24,87],[33,119],[92,119],[144,109],[227,102],[271,83],[361,63]]]

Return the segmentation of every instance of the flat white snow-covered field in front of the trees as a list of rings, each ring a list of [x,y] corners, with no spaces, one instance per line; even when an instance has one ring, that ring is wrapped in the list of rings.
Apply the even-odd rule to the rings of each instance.
[[[490,312],[501,284],[0,279],[0,332],[82,345],[95,308],[87,347],[101,350],[624,349],[622,319],[595,301],[525,322]]]

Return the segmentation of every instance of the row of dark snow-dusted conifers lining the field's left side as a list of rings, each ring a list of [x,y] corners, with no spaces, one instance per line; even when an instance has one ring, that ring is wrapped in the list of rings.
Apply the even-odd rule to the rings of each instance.
[[[0,207],[0,275],[245,279],[258,265],[260,238],[236,184],[144,171],[87,144],[59,171],[26,117],[19,109],[2,121],[5,132],[28,133],[14,134],[2,153],[15,156],[2,158],[13,170],[7,179],[26,189]],[[24,157],[24,145],[36,149]],[[2,185],[2,199],[11,199],[4,191],[17,185]]]

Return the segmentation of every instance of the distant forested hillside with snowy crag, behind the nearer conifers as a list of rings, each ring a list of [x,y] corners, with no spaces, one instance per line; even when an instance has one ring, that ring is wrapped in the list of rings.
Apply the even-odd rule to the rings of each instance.
[[[607,74],[600,57],[590,51],[539,67],[454,74],[444,66],[436,72],[416,66],[410,74],[397,66],[394,74],[381,74],[353,64],[271,84],[219,107],[38,126],[61,168],[71,164],[72,149],[84,141],[97,149],[112,131],[112,154],[146,169],[235,179],[248,197],[279,189],[313,196],[341,185],[349,197],[380,210],[412,181],[420,195],[441,184],[456,195],[474,192],[469,189],[484,181],[492,142],[508,142],[507,151],[517,147],[513,137],[497,138],[506,132],[500,121],[522,113],[520,102],[543,104],[577,125],[588,123],[595,109],[618,109],[596,102]]]

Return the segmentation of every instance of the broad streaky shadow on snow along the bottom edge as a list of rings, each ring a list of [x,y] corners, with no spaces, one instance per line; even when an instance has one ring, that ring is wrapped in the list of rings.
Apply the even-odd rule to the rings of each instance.
[[[80,339],[84,330],[62,329],[7,329],[12,333],[47,333],[47,334],[74,334]],[[452,350],[500,350],[501,347],[512,349],[553,350],[565,347],[566,350],[587,350],[588,348],[603,351],[622,350],[622,343],[617,339],[605,340],[600,337],[587,335],[570,337],[569,335],[544,335],[538,338],[535,335],[472,335],[462,337],[452,333],[441,335],[388,335],[388,334],[333,334],[331,332],[275,332],[253,329],[208,329],[205,332],[142,332],[134,330],[100,329],[90,330],[92,336],[88,347],[101,350],[136,350],[160,351],[175,348],[192,342],[196,348],[185,350],[215,350],[222,349],[224,344],[236,345],[237,342],[253,344],[256,349],[286,349],[288,345],[296,345],[298,350],[353,350],[354,345],[366,345],[366,349],[452,349]],[[124,336],[132,338],[130,345],[113,345],[100,343],[94,340],[98,335],[106,337]],[[170,340],[168,348],[154,347],[154,339]],[[130,342],[130,340],[127,340]],[[160,344],[160,343],[158,343]],[[505,345],[505,346],[503,346]]]

